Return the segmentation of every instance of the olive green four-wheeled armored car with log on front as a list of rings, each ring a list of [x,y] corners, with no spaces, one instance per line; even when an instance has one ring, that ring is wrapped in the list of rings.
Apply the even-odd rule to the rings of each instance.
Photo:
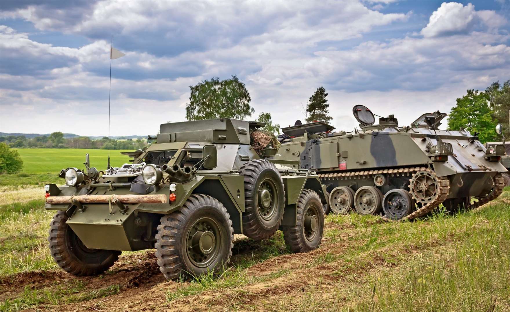
[[[268,160],[278,141],[262,122],[230,118],[161,124],[157,143],[101,172],[63,169],[47,184],[47,210],[57,210],[49,248],[74,275],[107,270],[121,251],[156,248],[168,279],[221,270],[234,234],[260,240],[278,229],[293,252],[318,247],[325,190],[310,170]],[[290,161],[290,163],[293,163]],[[299,162],[294,162],[297,164]]]

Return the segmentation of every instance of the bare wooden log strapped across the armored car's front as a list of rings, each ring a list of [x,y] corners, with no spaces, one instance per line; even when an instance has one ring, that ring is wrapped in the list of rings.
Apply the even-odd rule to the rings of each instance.
[[[116,198],[123,204],[166,204],[168,196],[160,195],[75,195],[73,200],[78,200],[83,204],[108,203],[109,200]],[[46,198],[48,204],[70,204],[71,196],[49,196]]]

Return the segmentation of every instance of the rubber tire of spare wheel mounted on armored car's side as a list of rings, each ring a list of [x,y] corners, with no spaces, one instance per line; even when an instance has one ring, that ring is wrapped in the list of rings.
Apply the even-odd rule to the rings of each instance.
[[[267,160],[256,159],[245,163],[238,173],[244,175],[243,234],[254,240],[273,236],[282,224],[285,207],[284,184],[278,169]],[[271,222],[263,220],[258,211],[260,183],[267,177],[279,188],[278,208]]]

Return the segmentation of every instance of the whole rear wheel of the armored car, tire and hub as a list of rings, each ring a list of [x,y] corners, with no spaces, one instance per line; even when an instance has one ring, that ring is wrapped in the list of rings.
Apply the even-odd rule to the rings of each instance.
[[[283,227],[284,240],[294,253],[319,247],[324,232],[324,211],[317,193],[304,189],[296,205],[297,224]]]

